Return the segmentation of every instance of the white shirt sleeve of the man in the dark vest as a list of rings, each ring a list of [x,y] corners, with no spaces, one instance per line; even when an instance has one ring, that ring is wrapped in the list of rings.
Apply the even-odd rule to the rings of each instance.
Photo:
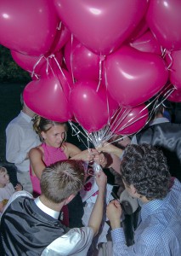
[[[69,230],[46,247],[41,256],[85,256],[93,241],[93,230],[89,227]]]

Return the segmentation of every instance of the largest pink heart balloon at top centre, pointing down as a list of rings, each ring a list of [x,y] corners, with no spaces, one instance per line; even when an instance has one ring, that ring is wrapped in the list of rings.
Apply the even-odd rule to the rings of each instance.
[[[54,0],[59,19],[88,49],[107,55],[117,49],[143,18],[148,1]]]

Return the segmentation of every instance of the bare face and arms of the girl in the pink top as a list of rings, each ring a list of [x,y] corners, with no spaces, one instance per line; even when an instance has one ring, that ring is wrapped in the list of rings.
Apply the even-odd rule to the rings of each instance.
[[[99,154],[96,149],[87,149],[81,151],[81,149],[77,148],[71,143],[62,143],[65,137],[64,125],[54,125],[48,131],[42,131],[41,135],[43,137],[44,143],[46,143],[48,146],[52,146],[54,148],[61,147],[64,150],[67,159],[91,161],[94,160],[96,156],[95,160],[98,161],[99,159],[99,163],[100,160],[102,160],[103,165],[106,164],[104,154]],[[36,148],[31,148],[29,152],[29,158],[31,161],[32,174],[36,175],[40,179],[42,176],[42,171],[46,167],[43,161],[44,152],[42,146],[40,145]]]

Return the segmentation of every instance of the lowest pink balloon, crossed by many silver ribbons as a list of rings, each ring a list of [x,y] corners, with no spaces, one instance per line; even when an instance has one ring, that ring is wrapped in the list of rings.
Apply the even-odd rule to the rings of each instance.
[[[130,135],[144,127],[149,118],[144,104],[134,108],[120,108],[111,121],[110,130],[117,135]]]

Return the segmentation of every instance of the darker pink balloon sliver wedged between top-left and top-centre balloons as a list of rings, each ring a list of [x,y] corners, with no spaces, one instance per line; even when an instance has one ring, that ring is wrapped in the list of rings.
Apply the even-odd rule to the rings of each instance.
[[[59,29],[57,29],[54,43],[51,46],[50,52],[54,53],[61,49],[71,38],[71,32],[60,22]]]

